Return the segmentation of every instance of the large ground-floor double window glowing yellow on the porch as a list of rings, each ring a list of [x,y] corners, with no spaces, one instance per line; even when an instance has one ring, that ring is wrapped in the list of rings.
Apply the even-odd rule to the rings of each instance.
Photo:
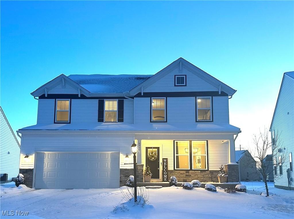
[[[175,169],[207,170],[207,141],[174,141]]]

